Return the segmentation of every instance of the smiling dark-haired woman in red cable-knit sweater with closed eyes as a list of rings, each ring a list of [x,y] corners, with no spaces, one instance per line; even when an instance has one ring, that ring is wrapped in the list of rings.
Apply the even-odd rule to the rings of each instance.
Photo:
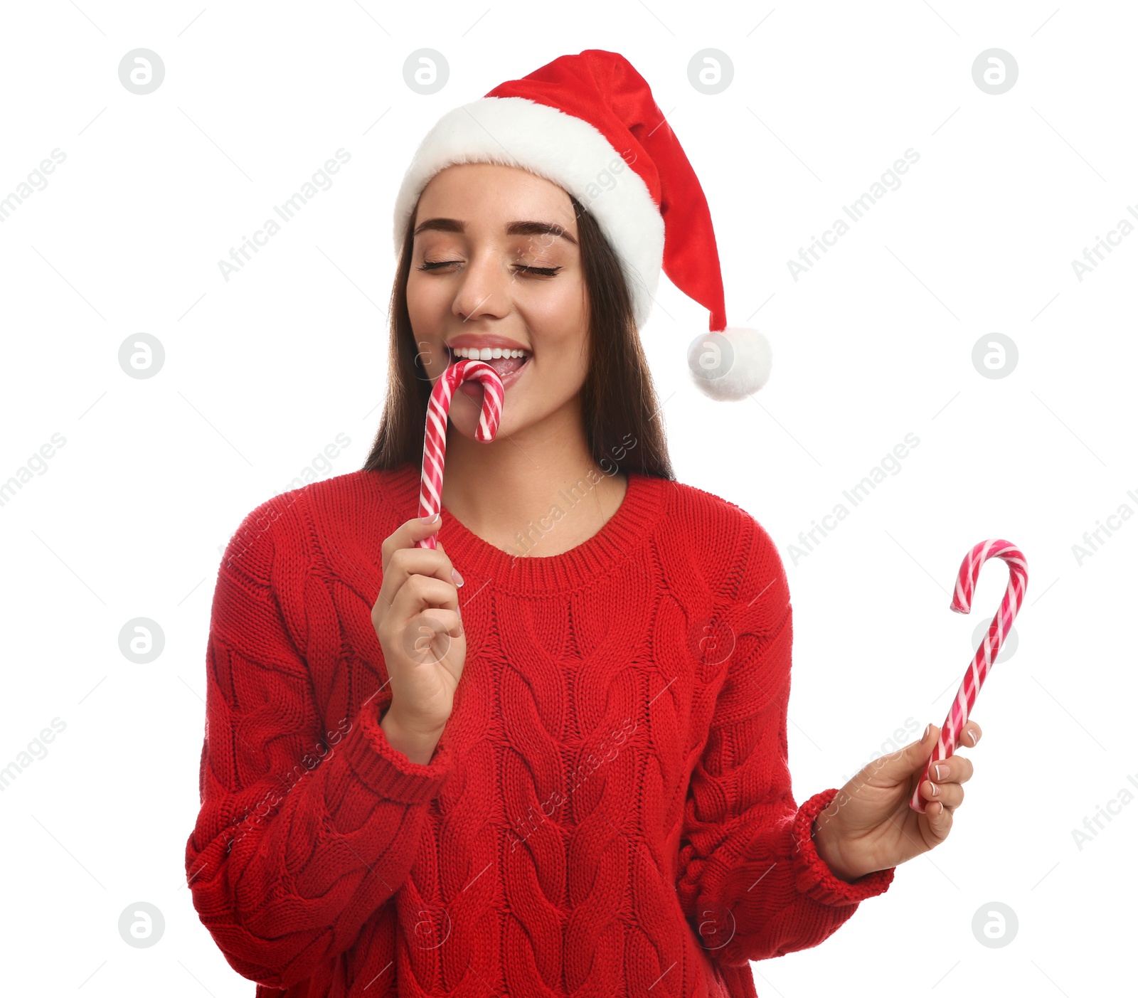
[[[646,91],[595,51],[513,85],[566,77],[589,106]],[[675,191],[686,159],[644,131]],[[376,446],[250,513],[218,572],[195,907],[258,996],[754,996],[749,960],[817,946],[945,839],[972,764],[912,811],[930,725],[795,805],[786,575],[751,517],[674,480],[619,208],[432,134],[397,206]],[[460,388],[422,522],[427,398],[473,349],[502,423],[477,443]]]

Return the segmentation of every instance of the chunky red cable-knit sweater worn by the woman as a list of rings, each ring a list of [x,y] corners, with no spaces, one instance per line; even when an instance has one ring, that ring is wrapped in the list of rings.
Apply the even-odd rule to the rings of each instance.
[[[561,511],[576,493],[551,496]],[[233,535],[206,654],[193,906],[257,998],[754,998],[893,868],[819,858],[787,768],[791,605],[764,528],[638,473],[516,558],[444,508],[467,662],[429,764],[388,744],[371,608],[419,469],[274,496]]]

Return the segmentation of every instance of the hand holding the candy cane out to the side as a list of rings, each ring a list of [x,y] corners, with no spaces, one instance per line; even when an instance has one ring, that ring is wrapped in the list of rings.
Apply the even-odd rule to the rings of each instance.
[[[968,720],[954,750],[980,741],[980,725]],[[852,881],[877,869],[898,866],[948,838],[953,816],[964,801],[963,783],[972,778],[972,760],[953,754],[924,768],[940,737],[930,724],[924,737],[889,756],[874,759],[855,775],[815,820],[818,855],[841,880]],[[909,807],[921,784],[925,813]]]

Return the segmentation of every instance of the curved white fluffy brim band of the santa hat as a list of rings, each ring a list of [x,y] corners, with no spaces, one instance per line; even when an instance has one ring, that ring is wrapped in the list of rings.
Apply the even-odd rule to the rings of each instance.
[[[523,97],[484,97],[454,108],[423,138],[399,185],[396,255],[423,188],[459,163],[518,166],[577,198],[619,257],[636,324],[644,325],[663,263],[663,218],[648,185],[601,132]]]

